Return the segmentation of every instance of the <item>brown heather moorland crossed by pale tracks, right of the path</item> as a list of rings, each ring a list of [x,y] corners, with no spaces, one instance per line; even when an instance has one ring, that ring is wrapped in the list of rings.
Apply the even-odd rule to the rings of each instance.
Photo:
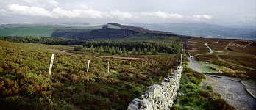
[[[218,41],[218,43],[216,43]],[[252,43],[251,43],[252,42]],[[208,43],[213,49],[213,54],[204,54],[196,56],[196,60],[211,62],[218,67],[211,67],[211,69],[218,71],[216,74],[221,76],[232,76],[236,78],[256,78],[256,61],[255,51],[256,43],[254,41],[239,41],[239,40],[224,40],[224,39],[205,39],[195,38],[188,41],[188,48],[197,48],[198,51],[189,52],[189,55],[201,54],[205,50],[204,43]],[[246,48],[232,46],[235,44],[247,45]],[[201,46],[205,47],[202,48]],[[201,48],[200,48],[201,47]],[[209,49],[208,49],[209,51]],[[207,52],[205,52],[207,53]]]

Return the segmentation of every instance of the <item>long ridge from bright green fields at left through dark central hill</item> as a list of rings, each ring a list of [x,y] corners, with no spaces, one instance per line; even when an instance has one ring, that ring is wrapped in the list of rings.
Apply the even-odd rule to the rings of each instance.
[[[88,23],[18,23],[0,24],[0,37],[4,36],[36,36],[64,37],[69,39],[116,39],[124,37],[179,37],[182,40],[191,36],[178,35],[173,32],[155,31],[138,26],[127,26],[118,23],[95,25]]]

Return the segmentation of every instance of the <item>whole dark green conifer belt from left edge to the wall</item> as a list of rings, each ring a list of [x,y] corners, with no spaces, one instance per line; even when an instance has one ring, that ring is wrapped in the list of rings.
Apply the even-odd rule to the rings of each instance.
[[[50,45],[82,45],[90,52],[111,54],[180,54],[181,40],[178,37],[130,37],[124,39],[74,40],[60,37],[0,37],[15,43],[43,43]],[[81,49],[77,51],[82,51]]]

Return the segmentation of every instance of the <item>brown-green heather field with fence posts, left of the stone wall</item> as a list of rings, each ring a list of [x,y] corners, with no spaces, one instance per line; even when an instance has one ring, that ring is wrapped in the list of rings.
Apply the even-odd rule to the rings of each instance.
[[[141,96],[151,84],[162,81],[179,64],[179,56],[171,54],[126,55],[146,59],[141,61],[102,58],[100,54],[84,51],[62,54],[49,49],[72,52],[74,46],[0,40],[2,109],[127,109],[133,98]],[[55,58],[49,76],[51,54]]]

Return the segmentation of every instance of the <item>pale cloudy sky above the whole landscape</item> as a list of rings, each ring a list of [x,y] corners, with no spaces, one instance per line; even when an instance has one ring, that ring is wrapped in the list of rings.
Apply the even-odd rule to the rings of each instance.
[[[0,23],[256,25],[256,0],[0,0]]]

